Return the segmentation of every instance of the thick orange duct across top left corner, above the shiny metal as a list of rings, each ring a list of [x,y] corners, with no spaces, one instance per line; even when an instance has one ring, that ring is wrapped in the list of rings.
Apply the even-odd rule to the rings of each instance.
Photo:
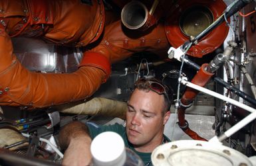
[[[104,5],[92,0],[0,1],[0,26],[9,36],[37,37],[68,46],[96,41],[104,28]]]

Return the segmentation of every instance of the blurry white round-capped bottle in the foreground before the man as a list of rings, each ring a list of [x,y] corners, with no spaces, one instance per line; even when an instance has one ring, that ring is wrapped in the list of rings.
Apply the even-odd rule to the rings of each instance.
[[[124,140],[115,132],[103,132],[96,136],[90,151],[96,166],[122,166],[126,161]]]

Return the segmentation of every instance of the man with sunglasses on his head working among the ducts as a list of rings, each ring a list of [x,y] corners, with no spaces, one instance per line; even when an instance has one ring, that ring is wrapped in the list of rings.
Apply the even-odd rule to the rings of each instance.
[[[156,79],[139,79],[128,101],[126,127],[120,124],[98,128],[80,122],[64,126],[59,142],[64,153],[63,165],[88,165],[92,139],[105,131],[117,132],[126,147],[135,151],[145,165],[152,165],[150,155],[158,145],[168,142],[164,125],[170,117],[172,91]]]

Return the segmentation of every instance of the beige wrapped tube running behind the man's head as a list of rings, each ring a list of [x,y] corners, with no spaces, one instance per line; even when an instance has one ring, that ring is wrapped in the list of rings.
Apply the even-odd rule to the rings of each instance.
[[[128,107],[123,101],[96,97],[86,103],[77,104],[75,106],[59,105],[57,109],[63,113],[101,115],[125,119]]]

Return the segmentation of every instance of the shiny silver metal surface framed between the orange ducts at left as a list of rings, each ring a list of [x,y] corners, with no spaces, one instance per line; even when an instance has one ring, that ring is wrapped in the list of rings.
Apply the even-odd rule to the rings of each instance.
[[[82,58],[79,48],[56,46],[35,38],[13,38],[19,61],[29,70],[47,73],[76,71]]]

